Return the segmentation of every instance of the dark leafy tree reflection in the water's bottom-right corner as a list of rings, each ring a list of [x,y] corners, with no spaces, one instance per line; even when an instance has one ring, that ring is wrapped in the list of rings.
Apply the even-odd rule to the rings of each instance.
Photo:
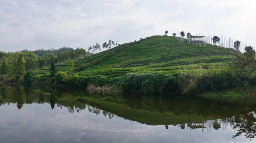
[[[241,136],[244,134],[246,138],[255,138],[256,137],[256,114],[255,112],[250,112],[247,114],[237,115],[230,120],[230,124],[233,126],[233,129],[238,132],[233,136]]]

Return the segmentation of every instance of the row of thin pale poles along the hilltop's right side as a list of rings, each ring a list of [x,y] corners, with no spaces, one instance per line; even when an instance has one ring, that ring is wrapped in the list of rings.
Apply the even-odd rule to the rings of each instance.
[[[177,40],[182,43],[187,43],[192,45],[199,45],[200,47],[223,47],[223,48],[234,48],[235,41],[240,41],[240,40],[234,40],[231,37],[227,37],[226,35],[214,35],[214,33],[208,33],[206,35],[203,34],[192,34],[192,37],[184,38],[181,36],[177,36]],[[194,36],[198,36],[195,38]],[[212,38],[214,36],[218,36],[220,38],[219,42],[214,44]],[[239,51],[245,52],[244,48],[251,46],[255,50],[255,46],[252,44],[244,43],[243,41],[240,41],[239,45]]]

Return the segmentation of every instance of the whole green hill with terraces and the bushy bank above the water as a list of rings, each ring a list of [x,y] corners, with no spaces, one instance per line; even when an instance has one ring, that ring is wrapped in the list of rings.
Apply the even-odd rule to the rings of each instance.
[[[99,48],[97,43],[92,49]],[[248,89],[256,84],[256,60],[252,48],[245,51],[183,43],[173,36],[152,36],[119,44],[76,62],[57,56],[58,61],[65,61],[58,64],[53,55],[50,58],[54,72],[51,65],[51,70],[35,70],[34,78],[37,83],[85,87],[90,83],[145,93],[201,94],[237,87]]]

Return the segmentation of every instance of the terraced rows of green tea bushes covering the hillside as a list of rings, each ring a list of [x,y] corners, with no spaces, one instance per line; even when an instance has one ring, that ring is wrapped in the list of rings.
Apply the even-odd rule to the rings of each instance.
[[[226,67],[234,58],[232,49],[180,43],[173,36],[152,36],[79,60],[75,62],[75,68],[85,66],[85,70],[76,72],[75,69],[74,72],[81,76],[111,77],[128,72],[189,72]],[[100,62],[95,63],[97,60]],[[56,69],[67,71],[66,64],[56,65]],[[37,74],[38,78],[50,75],[49,68],[40,69]]]

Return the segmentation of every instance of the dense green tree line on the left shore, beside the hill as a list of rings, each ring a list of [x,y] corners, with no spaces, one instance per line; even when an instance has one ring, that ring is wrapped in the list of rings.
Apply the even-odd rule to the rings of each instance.
[[[65,51],[65,52],[64,52]],[[22,50],[18,52],[3,52],[0,51],[0,73],[8,75],[8,78],[14,80],[23,79],[24,74],[28,72],[28,77],[31,77],[31,71],[39,68],[49,67],[52,62],[68,63],[70,60],[75,61],[83,58],[86,55],[83,48],[60,48],[58,50]],[[39,56],[40,55],[40,56]]]

